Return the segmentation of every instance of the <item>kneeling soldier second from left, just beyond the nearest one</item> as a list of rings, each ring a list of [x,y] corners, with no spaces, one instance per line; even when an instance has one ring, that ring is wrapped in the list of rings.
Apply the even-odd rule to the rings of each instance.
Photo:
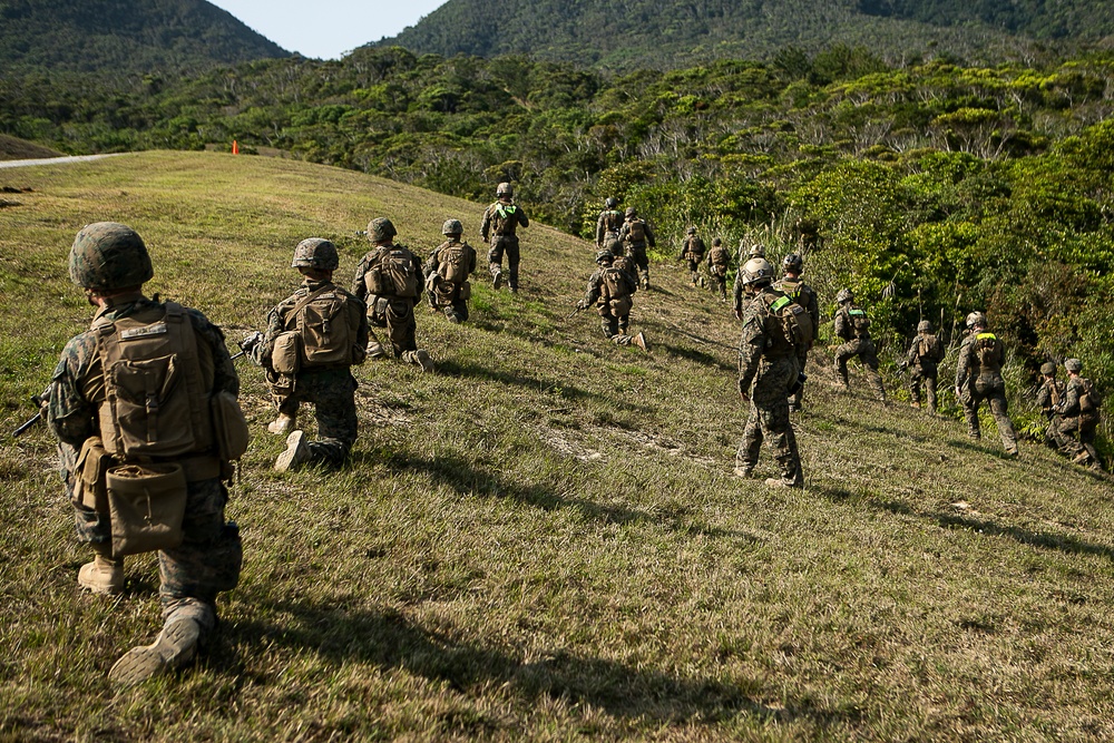
[[[267,314],[263,340],[251,349],[252,359],[266,370],[278,409],[267,430],[290,432],[275,469],[284,472],[319,462],[335,469],[348,459],[356,437],[352,364],[362,364],[367,356],[365,307],[333,283],[340,257],[328,239],[303,239],[290,265],[302,274],[302,285]],[[314,405],[316,441],[307,442],[296,428],[303,402]]]

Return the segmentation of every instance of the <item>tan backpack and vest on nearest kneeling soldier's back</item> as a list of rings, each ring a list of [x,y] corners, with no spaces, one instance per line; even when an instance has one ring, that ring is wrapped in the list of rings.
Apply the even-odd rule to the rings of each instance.
[[[98,423],[108,453],[135,462],[211,451],[214,362],[199,354],[184,307],[167,302],[130,317],[99,319],[92,330],[105,374]]]

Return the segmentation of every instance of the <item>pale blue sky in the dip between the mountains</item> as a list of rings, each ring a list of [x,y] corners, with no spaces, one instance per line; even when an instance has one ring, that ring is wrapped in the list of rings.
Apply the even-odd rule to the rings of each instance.
[[[283,49],[304,57],[342,55],[394,36],[447,0],[209,0]]]

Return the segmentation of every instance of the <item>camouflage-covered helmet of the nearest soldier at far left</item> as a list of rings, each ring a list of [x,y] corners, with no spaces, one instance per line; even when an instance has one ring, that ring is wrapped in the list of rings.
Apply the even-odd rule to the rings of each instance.
[[[70,280],[96,292],[139,286],[155,270],[143,237],[118,222],[81,227],[70,248]]]

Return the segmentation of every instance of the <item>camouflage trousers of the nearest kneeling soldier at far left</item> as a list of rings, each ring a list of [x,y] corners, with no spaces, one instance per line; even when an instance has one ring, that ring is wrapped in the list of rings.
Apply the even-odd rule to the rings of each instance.
[[[198,480],[187,485],[186,515],[182,521],[185,538],[174,549],[158,553],[158,597],[163,619],[177,616],[196,619],[206,633],[216,624],[216,595],[232,590],[240,583],[244,560],[240,529],[225,522],[224,506],[228,491],[221,480]],[[98,553],[110,551],[111,519],[108,514],[74,504],[79,541]]]

